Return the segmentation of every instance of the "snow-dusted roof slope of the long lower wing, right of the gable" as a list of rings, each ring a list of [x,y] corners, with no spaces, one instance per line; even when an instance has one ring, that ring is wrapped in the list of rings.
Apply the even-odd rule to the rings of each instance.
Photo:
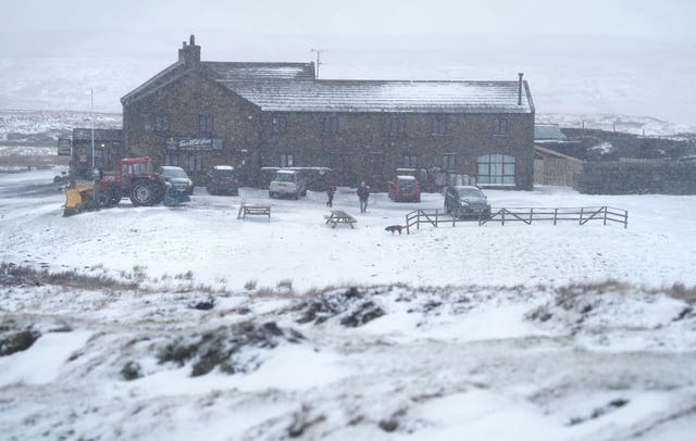
[[[275,80],[227,81],[235,93],[272,112],[531,113],[518,81]]]

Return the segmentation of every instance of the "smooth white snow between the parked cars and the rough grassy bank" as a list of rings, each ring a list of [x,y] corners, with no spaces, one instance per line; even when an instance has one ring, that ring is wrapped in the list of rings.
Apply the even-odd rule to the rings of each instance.
[[[353,214],[356,229],[327,228],[324,193],[300,201],[270,200],[268,191],[212,197],[197,188],[185,206],[134,207],[127,200],[108,211],[61,217],[64,197],[50,182],[57,171],[0,175],[0,259],[74,269],[147,269],[151,277],[191,270],[204,284],[224,279],[297,289],[344,284],[566,285],[616,279],[648,287],[696,285],[696,197],[585,196],[564,188],[487,191],[494,207],[610,205],[629,211],[629,228],[566,224],[423,227],[393,236],[415,210],[443,207],[442,194],[420,204],[373,194],[360,215],[353,189],[339,188],[335,209]],[[42,185],[42,186],[41,186]],[[13,190],[18,187],[21,190]],[[15,198],[9,198],[16,194]],[[271,203],[272,217],[236,219],[239,201]]]

